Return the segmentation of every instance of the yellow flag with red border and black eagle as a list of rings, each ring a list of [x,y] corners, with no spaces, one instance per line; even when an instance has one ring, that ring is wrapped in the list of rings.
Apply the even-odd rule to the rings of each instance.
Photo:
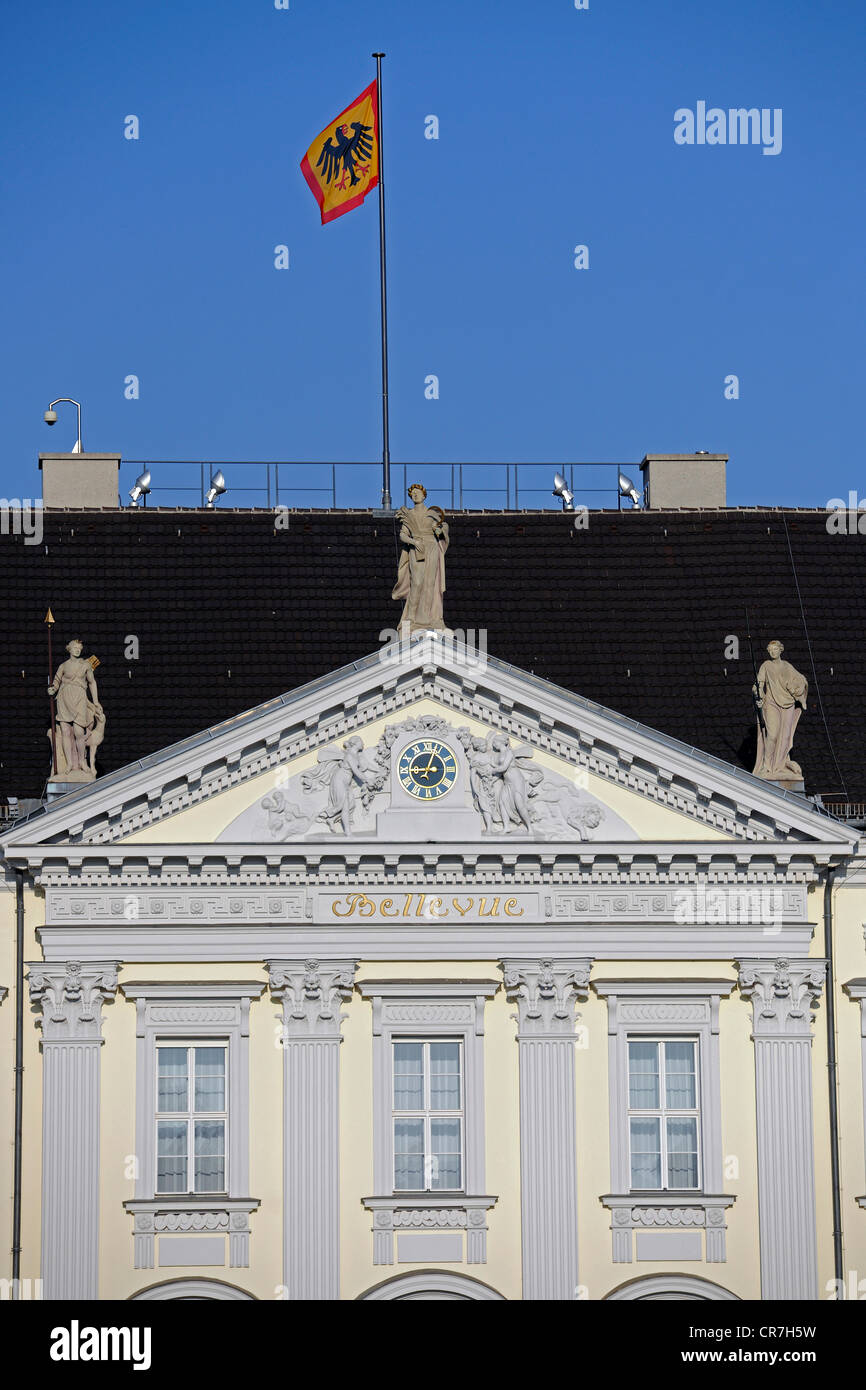
[[[300,170],[318,203],[322,224],[360,207],[379,181],[375,81],[316,136]]]

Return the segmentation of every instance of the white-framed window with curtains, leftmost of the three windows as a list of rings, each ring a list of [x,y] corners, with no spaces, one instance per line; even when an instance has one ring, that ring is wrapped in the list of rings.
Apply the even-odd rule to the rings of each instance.
[[[227,1044],[157,1044],[157,1194],[225,1193]]]

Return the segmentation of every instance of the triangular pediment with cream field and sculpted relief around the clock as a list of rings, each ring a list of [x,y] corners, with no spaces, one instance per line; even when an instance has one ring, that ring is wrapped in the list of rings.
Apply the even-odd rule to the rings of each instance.
[[[414,791],[411,777],[399,778],[407,751],[410,767],[420,766],[413,748],[438,756],[431,744],[446,762],[453,755],[450,801],[425,795],[424,777]],[[398,813],[414,817],[414,828],[400,833]],[[425,635],[99,778],[17,824],[4,844],[338,838],[516,848],[520,840],[852,844],[858,835],[802,796]]]

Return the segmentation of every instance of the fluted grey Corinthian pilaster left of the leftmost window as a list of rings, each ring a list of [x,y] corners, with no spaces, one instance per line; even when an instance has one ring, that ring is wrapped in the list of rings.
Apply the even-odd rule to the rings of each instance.
[[[101,1011],[115,962],[31,965],[42,1006],[42,1279],[46,1298],[99,1297]]]

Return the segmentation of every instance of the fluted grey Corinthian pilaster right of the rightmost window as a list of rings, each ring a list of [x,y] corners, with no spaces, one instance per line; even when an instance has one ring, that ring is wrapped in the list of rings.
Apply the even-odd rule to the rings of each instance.
[[[762,1298],[817,1298],[812,1008],[826,960],[741,960],[752,1001]]]

